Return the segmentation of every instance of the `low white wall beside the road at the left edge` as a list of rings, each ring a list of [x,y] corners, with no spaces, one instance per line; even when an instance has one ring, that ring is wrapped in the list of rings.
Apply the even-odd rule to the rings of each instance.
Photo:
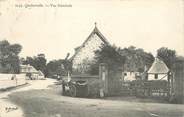
[[[25,83],[25,74],[0,74],[0,89],[15,87]]]

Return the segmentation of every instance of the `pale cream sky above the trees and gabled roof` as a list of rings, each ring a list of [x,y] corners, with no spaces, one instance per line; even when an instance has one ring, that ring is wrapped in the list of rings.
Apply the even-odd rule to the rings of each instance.
[[[71,4],[72,7],[17,7]],[[80,46],[94,23],[111,44],[156,55],[160,47],[184,56],[183,0],[0,0],[0,40],[23,46],[21,57],[44,53],[65,58]]]

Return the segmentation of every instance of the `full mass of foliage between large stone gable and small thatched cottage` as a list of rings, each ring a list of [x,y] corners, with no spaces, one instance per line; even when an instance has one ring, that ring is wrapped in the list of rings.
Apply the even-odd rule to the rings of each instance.
[[[151,53],[134,46],[123,49],[116,46],[103,46],[95,54],[96,61],[95,64],[91,65],[91,74],[98,74],[99,63],[107,63],[112,69],[117,68],[117,66],[124,66],[124,71],[143,72],[145,66],[149,68],[154,61]]]

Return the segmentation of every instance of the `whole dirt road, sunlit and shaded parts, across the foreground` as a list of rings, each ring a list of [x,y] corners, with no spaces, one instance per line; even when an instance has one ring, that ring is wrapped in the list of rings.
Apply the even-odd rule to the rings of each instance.
[[[10,99],[24,108],[1,115],[1,117],[184,117],[184,105],[118,101],[111,98],[87,99],[62,96],[61,87],[49,90],[55,80],[30,81],[30,86],[0,94],[3,107],[15,106]],[[37,89],[37,90],[33,90]],[[16,116],[15,116],[16,115]]]

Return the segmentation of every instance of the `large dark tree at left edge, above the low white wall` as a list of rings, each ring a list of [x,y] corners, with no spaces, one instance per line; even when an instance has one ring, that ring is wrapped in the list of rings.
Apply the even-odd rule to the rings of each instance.
[[[0,41],[0,72],[19,73],[19,56],[22,46],[10,44],[7,40]]]

